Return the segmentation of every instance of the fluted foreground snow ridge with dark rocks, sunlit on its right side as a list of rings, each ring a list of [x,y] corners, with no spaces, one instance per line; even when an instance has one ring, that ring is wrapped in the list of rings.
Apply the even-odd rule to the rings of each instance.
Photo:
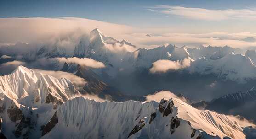
[[[177,98],[101,103],[77,97],[52,119],[57,122],[43,139],[245,139],[243,129],[227,116],[197,110]]]

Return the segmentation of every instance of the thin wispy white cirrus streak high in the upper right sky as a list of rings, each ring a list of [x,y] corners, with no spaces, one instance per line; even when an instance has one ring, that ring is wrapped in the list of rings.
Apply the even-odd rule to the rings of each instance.
[[[191,8],[181,6],[169,6],[169,5],[156,5],[148,9],[149,11],[156,11],[159,13],[180,16],[188,19],[198,20],[227,20],[227,19],[250,19],[256,20],[255,9],[224,9],[224,10],[212,10],[204,8]]]

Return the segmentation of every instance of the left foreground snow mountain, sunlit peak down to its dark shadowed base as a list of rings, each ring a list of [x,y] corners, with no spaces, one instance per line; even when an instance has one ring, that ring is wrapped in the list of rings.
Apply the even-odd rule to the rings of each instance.
[[[55,109],[75,96],[71,81],[19,66],[0,76],[1,131],[7,139],[39,138]]]

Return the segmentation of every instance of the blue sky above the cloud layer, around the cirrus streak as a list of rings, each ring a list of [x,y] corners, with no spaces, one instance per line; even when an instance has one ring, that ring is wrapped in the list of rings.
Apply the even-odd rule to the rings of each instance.
[[[0,17],[81,17],[125,24],[133,27],[185,26],[225,28],[231,20],[190,19],[150,11],[156,5],[203,8],[208,10],[252,9],[256,0],[0,0]],[[157,9],[159,10],[159,9]],[[232,21],[234,22],[234,20]],[[235,24],[251,26],[253,22],[235,20]],[[206,26],[207,25],[207,26]]]

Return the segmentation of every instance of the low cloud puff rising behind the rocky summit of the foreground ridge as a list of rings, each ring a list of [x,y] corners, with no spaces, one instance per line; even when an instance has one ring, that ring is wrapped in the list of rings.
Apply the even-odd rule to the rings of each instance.
[[[146,97],[146,101],[145,102],[150,102],[150,101],[160,102],[161,99],[169,100],[169,99],[171,99],[173,97],[181,99],[183,102],[187,102],[187,100],[185,98],[178,97],[178,96],[176,96],[175,94],[173,94],[170,91],[159,91],[159,92],[156,92],[153,95],[147,95],[147,96],[144,96],[144,97]]]

